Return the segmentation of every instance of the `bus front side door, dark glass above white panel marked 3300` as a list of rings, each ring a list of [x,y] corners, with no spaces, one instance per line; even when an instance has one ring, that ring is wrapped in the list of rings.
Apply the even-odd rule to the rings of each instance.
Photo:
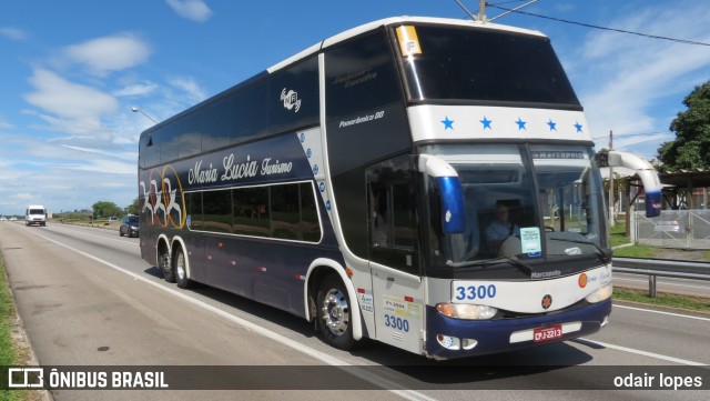
[[[413,180],[403,179],[387,168],[368,172],[369,267],[376,337],[418,353],[425,300]]]

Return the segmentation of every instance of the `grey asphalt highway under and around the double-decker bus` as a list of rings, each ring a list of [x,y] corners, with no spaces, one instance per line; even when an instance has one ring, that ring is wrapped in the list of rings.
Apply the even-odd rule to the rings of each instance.
[[[700,377],[710,389],[707,367],[692,368],[710,363],[707,315],[618,304],[611,323],[588,339],[435,362],[374,341],[353,352],[338,351],[288,313],[206,287],[179,290],[140,259],[139,239],[119,238],[114,231],[2,222],[0,250],[41,365],[267,365],[274,368],[253,370],[276,387],[310,372],[335,388],[237,393],[61,390],[53,393],[57,400],[708,399],[707,390],[580,391],[600,382],[609,388],[615,378],[645,371],[651,377]],[[540,365],[546,368],[526,368]],[[200,368],[194,369],[200,374]],[[345,381],[343,389],[334,384],[338,380]],[[383,390],[353,390],[363,388],[356,384],[361,382]]]

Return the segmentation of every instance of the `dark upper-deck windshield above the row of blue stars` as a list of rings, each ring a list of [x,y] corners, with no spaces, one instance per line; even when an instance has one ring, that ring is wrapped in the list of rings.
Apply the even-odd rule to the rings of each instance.
[[[579,107],[547,38],[460,27],[415,28],[420,52],[403,60],[412,101]]]

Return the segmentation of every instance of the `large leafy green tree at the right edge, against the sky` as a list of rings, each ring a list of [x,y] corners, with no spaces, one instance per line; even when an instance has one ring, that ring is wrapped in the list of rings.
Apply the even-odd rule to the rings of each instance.
[[[658,148],[658,159],[670,170],[710,169],[710,81],[683,99],[688,110],[670,123],[676,140]]]

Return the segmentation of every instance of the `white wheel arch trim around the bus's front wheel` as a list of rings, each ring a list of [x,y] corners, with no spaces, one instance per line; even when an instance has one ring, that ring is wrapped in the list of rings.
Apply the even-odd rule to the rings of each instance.
[[[353,281],[347,277],[345,267],[332,259],[318,258],[314,260],[308,267],[305,280],[306,284],[304,285],[303,290],[306,320],[313,321],[315,319],[315,314],[311,313],[311,299],[316,298],[316,293],[318,291],[321,282],[326,275],[331,273],[337,274],[345,285],[345,289],[347,290],[347,297],[351,300],[351,321],[353,323],[353,338],[355,340],[359,340],[363,338],[363,322],[355,287],[353,285]]]

